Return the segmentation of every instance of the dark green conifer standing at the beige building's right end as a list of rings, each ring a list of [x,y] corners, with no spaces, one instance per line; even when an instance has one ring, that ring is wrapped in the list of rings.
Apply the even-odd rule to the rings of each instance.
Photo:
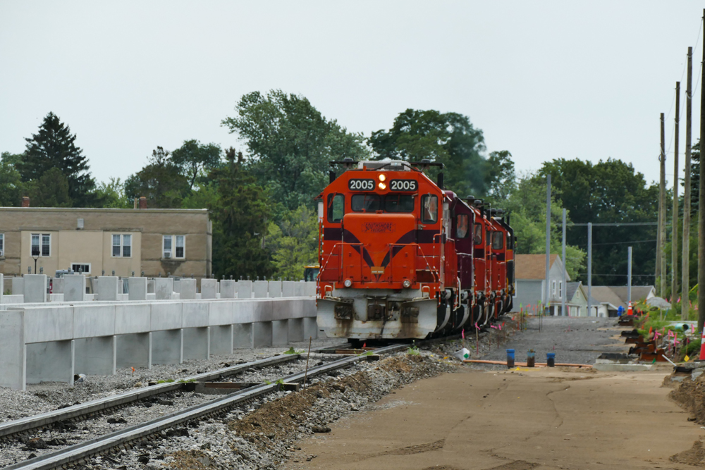
[[[213,214],[213,271],[218,276],[271,276],[273,266],[264,238],[271,213],[266,190],[228,152],[227,163],[209,175],[216,182],[218,199]]]

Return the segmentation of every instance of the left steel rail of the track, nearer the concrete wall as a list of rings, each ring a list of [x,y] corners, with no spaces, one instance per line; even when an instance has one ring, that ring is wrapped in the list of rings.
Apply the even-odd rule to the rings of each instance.
[[[325,348],[316,348],[316,350],[321,349]],[[67,419],[75,419],[79,418],[80,416],[104,413],[108,409],[123,407],[130,403],[143,400],[147,397],[173,392],[183,387],[183,384],[185,382],[214,381],[219,378],[234,376],[235,374],[246,371],[247,369],[250,369],[252,367],[273,366],[275,364],[281,364],[283,362],[289,362],[295,359],[300,359],[300,357],[301,354],[278,354],[276,356],[268,357],[266,359],[257,359],[257,361],[236,364],[235,366],[226,367],[224,369],[217,369],[211,372],[199,373],[195,376],[182,378],[180,379],[180,381],[177,382],[158,383],[157,385],[151,385],[149,387],[131,390],[130,392],[121,393],[120,395],[99,398],[90,402],[75,404],[71,407],[56,409],[54,411],[42,414],[35,414],[32,416],[27,416],[26,418],[16,419],[13,421],[7,421],[5,423],[0,423],[0,439],[6,439],[8,438],[8,436],[18,433],[24,433],[26,431],[31,431],[32,429],[43,428],[44,426],[49,426],[50,424],[59,421],[66,421]]]

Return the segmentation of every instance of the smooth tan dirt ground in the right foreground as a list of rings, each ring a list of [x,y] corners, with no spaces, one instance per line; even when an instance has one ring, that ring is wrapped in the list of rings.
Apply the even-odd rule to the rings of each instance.
[[[692,469],[705,429],[668,369],[464,368],[396,390],[301,443],[288,469]],[[704,439],[705,440],[705,439]],[[307,462],[307,457],[315,455]]]

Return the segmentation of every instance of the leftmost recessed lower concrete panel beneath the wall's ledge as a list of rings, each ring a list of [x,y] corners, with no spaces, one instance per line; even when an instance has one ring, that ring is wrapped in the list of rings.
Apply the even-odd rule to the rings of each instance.
[[[27,383],[66,382],[73,385],[73,352],[73,340],[27,345]]]

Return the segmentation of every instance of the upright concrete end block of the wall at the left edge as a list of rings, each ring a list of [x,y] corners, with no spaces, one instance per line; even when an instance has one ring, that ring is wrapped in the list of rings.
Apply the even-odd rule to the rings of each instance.
[[[0,387],[26,388],[24,311],[0,311]]]

